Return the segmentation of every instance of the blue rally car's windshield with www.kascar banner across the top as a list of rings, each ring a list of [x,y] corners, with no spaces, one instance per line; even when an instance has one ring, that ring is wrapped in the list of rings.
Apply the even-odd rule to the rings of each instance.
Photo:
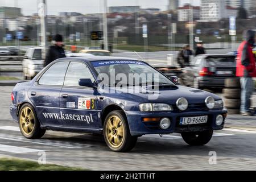
[[[98,73],[98,78],[109,86],[120,83],[129,86],[175,85],[162,73],[142,61],[94,61],[92,65]]]

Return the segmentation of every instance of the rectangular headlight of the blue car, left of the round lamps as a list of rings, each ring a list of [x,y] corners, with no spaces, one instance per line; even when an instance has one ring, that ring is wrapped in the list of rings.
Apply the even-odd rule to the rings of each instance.
[[[140,111],[172,111],[172,106],[161,103],[144,103],[139,105]]]

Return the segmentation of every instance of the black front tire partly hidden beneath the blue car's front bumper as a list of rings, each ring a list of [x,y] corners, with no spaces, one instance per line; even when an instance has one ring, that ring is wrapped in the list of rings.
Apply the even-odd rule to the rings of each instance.
[[[183,140],[190,146],[203,146],[207,144],[212,138],[213,130],[184,132],[181,133]]]

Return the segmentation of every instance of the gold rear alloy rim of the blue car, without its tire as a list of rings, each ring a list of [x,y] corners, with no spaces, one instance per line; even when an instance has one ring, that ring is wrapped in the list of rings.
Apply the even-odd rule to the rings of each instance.
[[[30,135],[34,130],[35,116],[30,107],[24,107],[20,113],[19,125],[22,133]]]

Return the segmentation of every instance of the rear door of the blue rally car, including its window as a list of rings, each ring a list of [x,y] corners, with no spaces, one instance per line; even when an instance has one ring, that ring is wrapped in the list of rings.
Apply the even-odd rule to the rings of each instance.
[[[53,64],[28,91],[36,106],[36,113],[43,126],[62,126],[60,116],[60,91],[69,61]]]

